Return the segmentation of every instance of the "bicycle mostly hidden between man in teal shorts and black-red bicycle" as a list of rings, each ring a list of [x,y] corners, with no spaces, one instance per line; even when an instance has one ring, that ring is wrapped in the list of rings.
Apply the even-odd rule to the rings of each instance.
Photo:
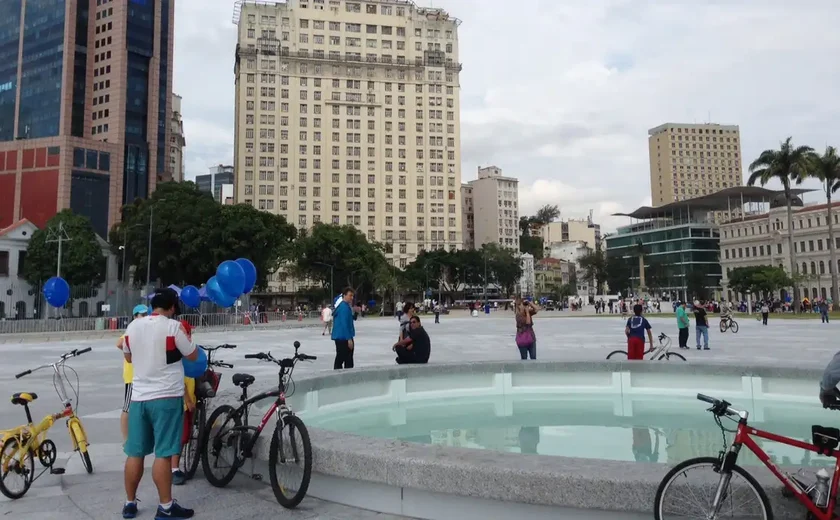
[[[224,361],[213,361],[213,353],[219,349],[236,348],[236,345],[218,345],[215,347],[203,347],[207,352],[207,370],[204,375],[195,381],[195,410],[192,414],[192,425],[190,426],[190,436],[184,440],[184,445],[181,448],[181,471],[187,479],[195,476],[198,470],[198,461],[201,458],[202,437],[204,435],[204,428],[207,424],[207,404],[210,399],[216,397],[216,392],[219,390],[219,383],[222,381],[222,375],[213,370],[216,368],[233,368],[230,363]]]

